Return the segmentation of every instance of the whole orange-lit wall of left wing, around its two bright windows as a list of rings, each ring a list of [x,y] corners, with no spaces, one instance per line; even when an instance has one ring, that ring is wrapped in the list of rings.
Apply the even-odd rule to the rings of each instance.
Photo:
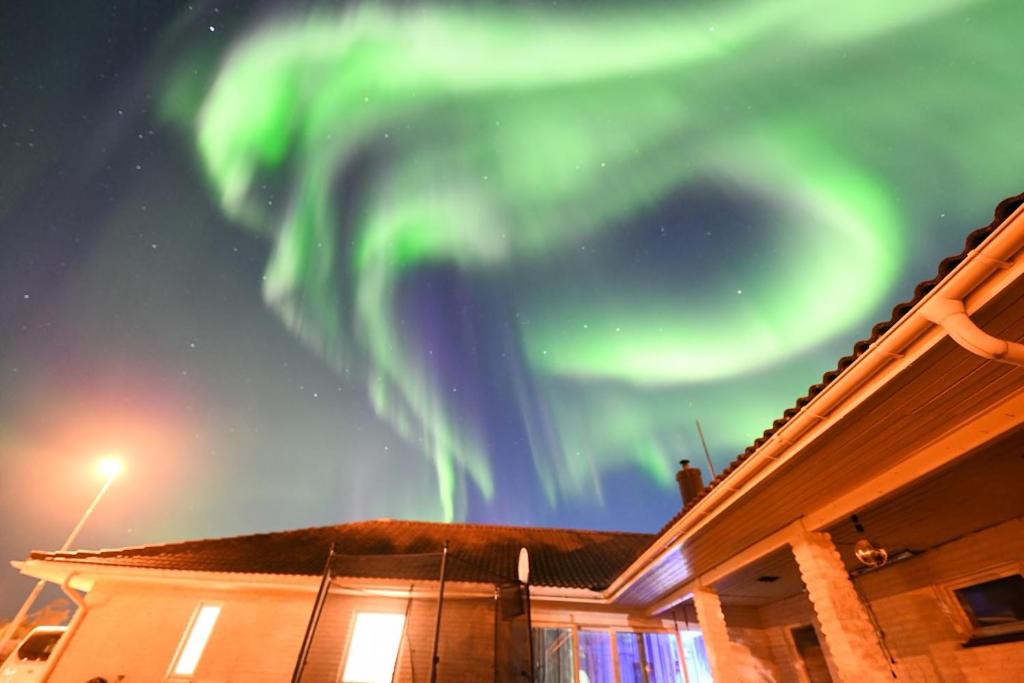
[[[340,680],[357,611],[406,614],[395,681],[429,680],[437,605],[431,588],[436,590],[418,587],[415,599],[332,592],[303,683]],[[475,683],[494,678],[496,602],[486,588],[475,588],[450,591],[444,597],[439,680]],[[197,584],[97,581],[86,595],[88,612],[50,680],[178,681],[169,671],[190,620],[200,603],[214,603],[221,611],[191,681],[291,681],[313,599],[312,590],[301,589],[218,590]]]

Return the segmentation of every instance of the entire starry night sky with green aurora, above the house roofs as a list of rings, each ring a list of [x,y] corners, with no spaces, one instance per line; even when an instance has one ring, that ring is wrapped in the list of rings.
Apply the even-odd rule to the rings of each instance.
[[[81,547],[656,530],[1022,189],[1022,20],[3,3],[0,557],[108,452]]]

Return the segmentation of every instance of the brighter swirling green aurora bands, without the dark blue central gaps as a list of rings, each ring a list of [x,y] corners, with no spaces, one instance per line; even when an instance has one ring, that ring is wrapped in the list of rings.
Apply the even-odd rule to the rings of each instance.
[[[359,5],[241,42],[197,143],[225,212],[273,241],[267,301],[338,367],[365,365],[378,413],[435,463],[449,518],[467,477],[484,498],[496,483],[480,428],[398,324],[403,278],[436,264],[552,272],[559,254],[613,239],[681,186],[714,182],[761,207],[765,253],[726,264],[748,287],[723,276],[697,299],[609,273],[599,292],[518,288],[538,392],[520,400],[555,425],[525,419],[549,499],[599,490],[602,472],[630,464],[667,482],[679,407],[651,396],[807,352],[898,273],[903,216],[844,138],[850,121],[874,119],[848,111],[827,63],[973,4]],[[818,87],[790,92],[798,76]],[[268,173],[290,183],[284,213],[259,199]],[[337,183],[352,173],[359,190],[346,195]],[[560,382],[597,384],[581,400]]]

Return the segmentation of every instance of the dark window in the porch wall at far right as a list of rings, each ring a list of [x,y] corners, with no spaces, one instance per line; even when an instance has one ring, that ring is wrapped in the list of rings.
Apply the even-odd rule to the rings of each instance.
[[[953,590],[974,636],[968,644],[1024,634],[1024,577],[1011,574]],[[1014,638],[1016,639],[1016,638]]]

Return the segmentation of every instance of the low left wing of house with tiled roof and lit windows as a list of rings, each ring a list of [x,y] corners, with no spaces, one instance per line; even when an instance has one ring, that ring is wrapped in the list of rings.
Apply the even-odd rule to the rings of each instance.
[[[301,681],[390,681],[392,668],[395,680],[427,681],[435,632],[437,680],[521,681],[528,678],[531,635],[517,581],[525,547],[534,636],[550,650],[548,669],[563,669],[560,677],[545,680],[561,681],[573,680],[565,658],[572,652],[574,632],[566,629],[572,624],[648,634],[648,640],[671,641],[672,652],[678,650],[671,617],[615,610],[602,599],[653,540],[644,533],[380,519],[113,551],[37,553],[25,568],[39,568],[72,596],[73,589],[85,592],[66,648],[54,653],[51,681],[123,676],[257,682],[288,681],[293,674]],[[318,594],[327,574],[330,589]],[[113,645],[126,641],[129,646]],[[385,663],[379,660],[381,647]],[[354,657],[364,651],[374,660],[360,665]],[[383,675],[374,669],[380,664],[386,665]],[[360,666],[361,673],[349,671]]]

